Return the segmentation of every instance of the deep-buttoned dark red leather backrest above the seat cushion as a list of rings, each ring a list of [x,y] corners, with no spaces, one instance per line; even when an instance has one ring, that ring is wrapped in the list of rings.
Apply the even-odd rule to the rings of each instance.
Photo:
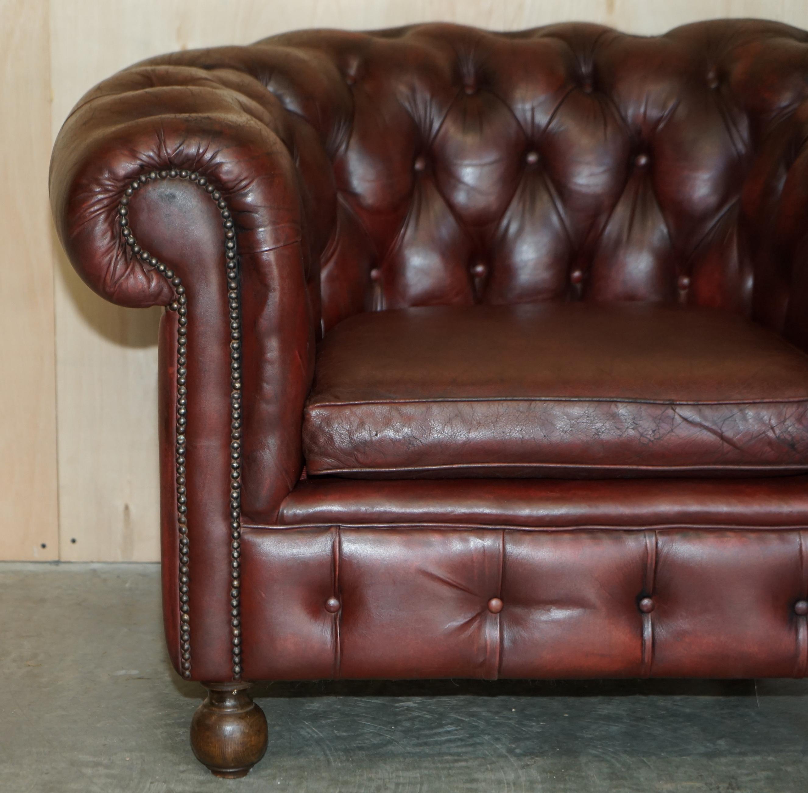
[[[751,313],[753,297],[781,327],[790,275],[775,272],[760,215],[776,214],[801,151],[806,44],[753,20],[650,38],[427,24],[150,63],[255,78],[269,89],[258,101],[291,112],[299,163],[303,127],[316,132],[333,167],[307,181],[325,327],[368,308],[580,299]]]

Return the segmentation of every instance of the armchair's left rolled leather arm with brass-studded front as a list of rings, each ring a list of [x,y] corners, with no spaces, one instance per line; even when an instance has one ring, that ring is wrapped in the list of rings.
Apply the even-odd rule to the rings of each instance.
[[[271,514],[301,472],[318,262],[335,222],[325,150],[248,74],[139,65],[71,112],[50,194],[92,289],[179,309],[163,318],[160,350],[166,633],[185,677],[238,677],[232,496]]]

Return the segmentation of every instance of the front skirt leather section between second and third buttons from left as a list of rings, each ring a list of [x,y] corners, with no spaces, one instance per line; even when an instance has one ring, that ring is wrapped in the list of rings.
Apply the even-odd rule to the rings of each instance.
[[[502,677],[642,676],[643,532],[509,531],[506,548]]]

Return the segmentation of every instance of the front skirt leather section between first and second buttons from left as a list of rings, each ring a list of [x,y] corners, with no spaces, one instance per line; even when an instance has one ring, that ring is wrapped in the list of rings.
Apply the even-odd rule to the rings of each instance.
[[[339,676],[496,677],[499,619],[486,603],[499,595],[501,533],[422,530],[403,539],[339,532]]]

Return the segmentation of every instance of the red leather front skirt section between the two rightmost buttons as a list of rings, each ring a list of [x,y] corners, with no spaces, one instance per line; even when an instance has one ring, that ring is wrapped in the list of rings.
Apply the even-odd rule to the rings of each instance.
[[[654,673],[806,674],[806,532],[659,535]],[[696,648],[696,652],[694,651]]]

